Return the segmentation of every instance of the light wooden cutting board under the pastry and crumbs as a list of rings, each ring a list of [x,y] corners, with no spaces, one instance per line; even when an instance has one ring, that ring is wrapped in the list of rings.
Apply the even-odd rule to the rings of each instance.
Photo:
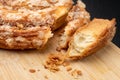
[[[58,39],[58,35],[54,36],[41,51],[0,49],[0,80],[120,80],[120,49],[113,43],[84,60],[72,61],[72,68],[82,71],[78,78],[63,66],[56,73],[45,69],[47,55],[57,52]],[[31,73],[30,69],[36,72]]]

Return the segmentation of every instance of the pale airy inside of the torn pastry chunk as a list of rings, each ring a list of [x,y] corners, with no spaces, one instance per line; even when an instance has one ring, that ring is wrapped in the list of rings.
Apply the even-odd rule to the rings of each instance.
[[[95,42],[95,37],[90,34],[78,33],[74,37],[74,49],[71,51],[71,56],[82,55],[86,49],[88,49],[91,44]]]

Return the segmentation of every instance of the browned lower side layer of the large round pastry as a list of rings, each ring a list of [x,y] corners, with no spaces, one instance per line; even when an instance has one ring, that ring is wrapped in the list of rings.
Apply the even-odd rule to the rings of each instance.
[[[52,37],[50,28],[34,30],[0,30],[0,48],[4,49],[41,49]]]

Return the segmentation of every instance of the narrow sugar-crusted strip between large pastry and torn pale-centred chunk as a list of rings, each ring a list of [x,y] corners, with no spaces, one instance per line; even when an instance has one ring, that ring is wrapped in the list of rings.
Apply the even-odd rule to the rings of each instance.
[[[71,36],[74,32],[90,21],[90,15],[85,9],[85,4],[78,0],[67,16],[67,25],[59,42],[59,48],[67,48]]]

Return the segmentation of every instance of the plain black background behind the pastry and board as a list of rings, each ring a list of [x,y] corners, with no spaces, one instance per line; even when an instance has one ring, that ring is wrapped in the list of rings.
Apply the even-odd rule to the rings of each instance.
[[[75,2],[77,0],[74,0]],[[116,18],[117,32],[113,43],[120,47],[120,3],[119,0],[82,0],[93,18]]]

